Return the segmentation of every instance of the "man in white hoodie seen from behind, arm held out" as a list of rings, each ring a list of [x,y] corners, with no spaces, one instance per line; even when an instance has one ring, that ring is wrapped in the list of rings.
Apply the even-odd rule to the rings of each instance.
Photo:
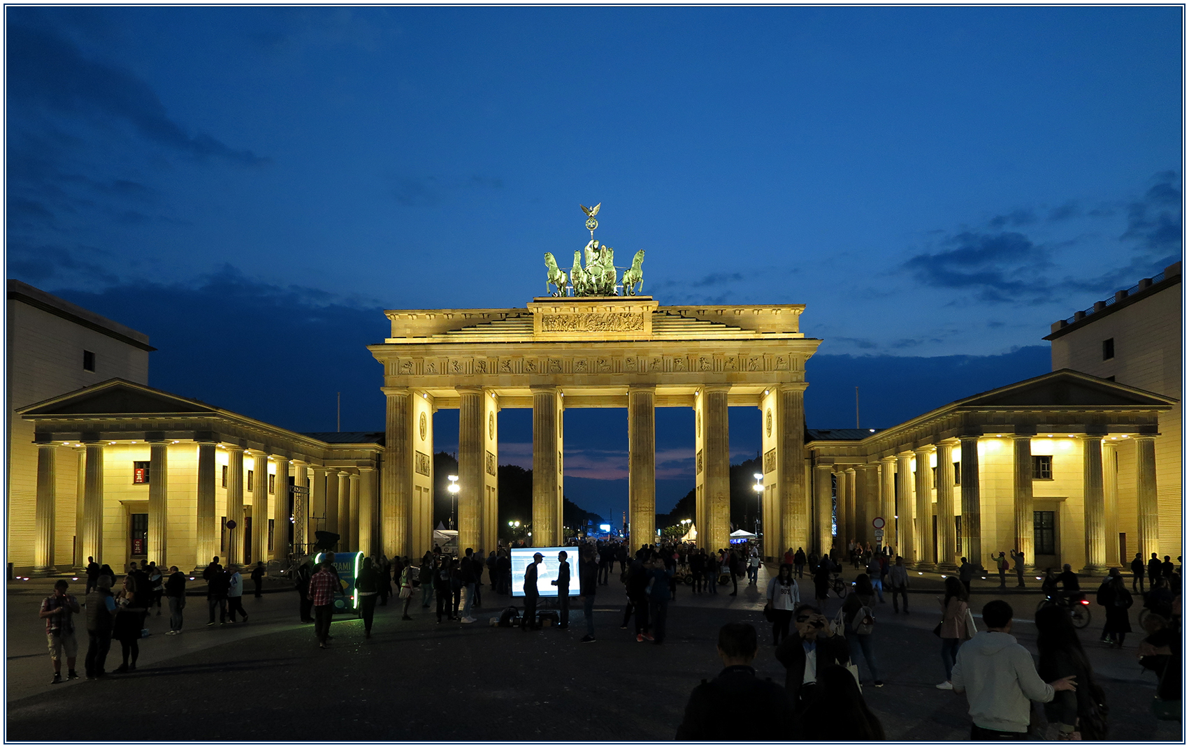
[[[951,683],[970,704],[970,740],[1026,740],[1030,701],[1048,703],[1057,691],[1076,691],[1074,676],[1045,683],[1032,654],[1012,636],[1012,607],[993,600],[982,607],[987,630],[958,648]]]

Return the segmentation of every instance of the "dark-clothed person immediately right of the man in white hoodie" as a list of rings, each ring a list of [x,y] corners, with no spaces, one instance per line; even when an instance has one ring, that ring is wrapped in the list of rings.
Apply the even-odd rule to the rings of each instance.
[[[1057,740],[1106,740],[1106,693],[1094,682],[1074,620],[1058,606],[1046,606],[1037,610],[1036,626],[1037,674],[1042,680],[1071,678],[1077,684],[1077,690],[1061,691],[1044,705],[1045,718],[1057,728]]]

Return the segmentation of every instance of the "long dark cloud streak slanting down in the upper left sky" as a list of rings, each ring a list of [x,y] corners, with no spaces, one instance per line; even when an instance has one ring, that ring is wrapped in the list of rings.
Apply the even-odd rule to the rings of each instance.
[[[168,116],[157,94],[132,71],[87,59],[77,46],[49,31],[10,25],[6,61],[10,107],[125,121],[147,140],[197,158],[249,166],[269,160],[206,133],[191,135]]]

